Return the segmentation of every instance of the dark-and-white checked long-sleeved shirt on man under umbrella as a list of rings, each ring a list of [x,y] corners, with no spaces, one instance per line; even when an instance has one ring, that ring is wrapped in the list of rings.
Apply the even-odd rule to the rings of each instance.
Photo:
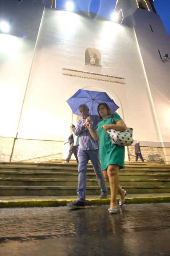
[[[96,125],[99,121],[99,116],[90,116],[91,117],[91,127],[95,131]],[[82,128],[85,123],[86,118],[80,118],[77,120],[77,126],[73,129],[74,134],[79,136],[79,148],[81,150],[95,150],[99,148],[99,143],[95,141],[90,132],[88,131],[87,126]]]

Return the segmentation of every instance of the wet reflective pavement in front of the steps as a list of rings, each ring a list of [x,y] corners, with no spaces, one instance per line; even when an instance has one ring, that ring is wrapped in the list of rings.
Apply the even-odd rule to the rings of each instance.
[[[0,209],[0,255],[170,256],[170,203]]]

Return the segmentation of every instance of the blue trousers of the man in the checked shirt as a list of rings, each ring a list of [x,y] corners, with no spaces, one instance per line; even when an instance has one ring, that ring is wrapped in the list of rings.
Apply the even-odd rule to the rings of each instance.
[[[99,184],[101,191],[107,191],[104,176],[101,170],[100,158],[99,158],[99,150],[81,150],[79,148],[78,152],[79,159],[79,181],[78,181],[78,190],[77,193],[79,195],[78,200],[85,202],[86,201],[86,173],[87,173],[87,163],[90,159],[93,165],[94,172],[96,174],[96,178]]]

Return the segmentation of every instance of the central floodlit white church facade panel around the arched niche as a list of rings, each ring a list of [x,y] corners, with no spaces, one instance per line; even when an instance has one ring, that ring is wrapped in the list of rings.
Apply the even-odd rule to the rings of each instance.
[[[87,48],[100,50],[102,68],[84,65]],[[64,76],[62,68],[120,76],[126,84]],[[133,28],[46,8],[18,136],[65,139],[64,131],[72,123],[66,100],[80,88],[94,87],[120,106],[118,112],[134,128],[135,140],[159,141]],[[146,120],[152,133],[143,129]]]

